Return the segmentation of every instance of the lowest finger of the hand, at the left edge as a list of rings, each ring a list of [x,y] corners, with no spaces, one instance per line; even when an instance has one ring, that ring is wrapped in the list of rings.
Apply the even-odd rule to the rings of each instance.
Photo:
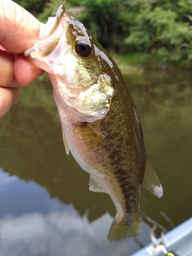
[[[11,106],[18,101],[20,88],[0,87],[0,118],[4,117]]]

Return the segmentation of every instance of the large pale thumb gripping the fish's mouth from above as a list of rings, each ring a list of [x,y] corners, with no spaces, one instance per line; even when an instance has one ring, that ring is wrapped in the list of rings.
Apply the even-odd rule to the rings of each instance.
[[[39,41],[43,24],[24,8],[10,0],[0,0],[0,45],[13,53],[22,53]]]

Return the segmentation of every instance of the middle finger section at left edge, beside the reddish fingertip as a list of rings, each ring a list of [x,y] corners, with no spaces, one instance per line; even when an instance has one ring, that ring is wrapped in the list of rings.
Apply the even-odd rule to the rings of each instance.
[[[14,55],[0,50],[0,86],[19,87],[13,73]]]

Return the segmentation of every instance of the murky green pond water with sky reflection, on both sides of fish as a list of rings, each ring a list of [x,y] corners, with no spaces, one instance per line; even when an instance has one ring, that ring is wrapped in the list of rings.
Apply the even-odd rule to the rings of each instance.
[[[141,236],[109,245],[115,207],[89,191],[84,172],[63,146],[47,79],[23,88],[0,126],[1,255],[130,255],[150,239],[153,223],[170,230],[192,214],[192,75],[125,74],[141,118],[145,146],[164,189],[141,189]]]

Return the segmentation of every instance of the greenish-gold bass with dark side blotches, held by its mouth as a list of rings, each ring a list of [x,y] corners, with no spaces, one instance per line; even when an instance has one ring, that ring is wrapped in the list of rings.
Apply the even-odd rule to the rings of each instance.
[[[50,77],[66,153],[90,174],[89,189],[109,194],[114,202],[109,243],[137,237],[140,186],[159,198],[163,189],[121,71],[63,5],[24,55]]]

